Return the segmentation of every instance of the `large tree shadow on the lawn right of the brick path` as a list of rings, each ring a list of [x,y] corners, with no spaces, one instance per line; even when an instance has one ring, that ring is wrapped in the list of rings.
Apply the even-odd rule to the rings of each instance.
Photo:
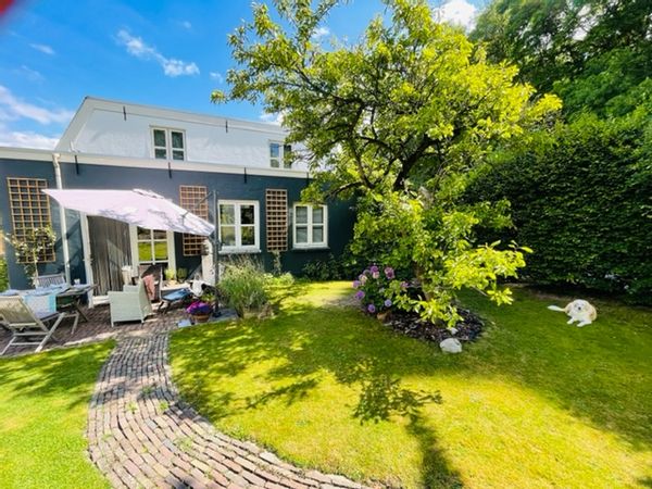
[[[631,346],[638,339],[652,348],[650,329],[631,328],[619,317],[614,323],[610,317],[617,316],[616,310],[609,308],[600,308],[601,319],[594,325],[570,327],[541,301],[521,291],[516,294],[519,300],[514,305],[500,310],[482,299],[465,297],[468,305],[487,312],[499,325],[461,356],[440,355],[436,346],[396,335],[350,309],[325,310],[303,302],[285,306],[276,318],[264,322],[187,330],[176,338],[187,363],[185,374],[193,373],[197,389],[186,383],[186,392],[215,419],[273,400],[291,405],[309,396],[326,372],[339,384],[358,389],[358,402],[350,409],[361,423],[406,419],[408,432],[421,446],[422,478],[427,487],[461,487],[462,482],[421,412],[425,404],[443,401],[439,392],[403,385],[414,376],[450,373],[513,379],[575,417],[618,434],[635,449],[649,449],[652,374],[644,350],[632,352]],[[612,330],[614,326],[622,329]],[[605,341],[605,335],[614,338]],[[263,388],[244,406],[236,405],[233,398],[224,399],[230,405],[215,401],[221,375],[236,376],[268,361],[275,363],[258,374],[260,380],[263,385],[281,383],[281,387]]]

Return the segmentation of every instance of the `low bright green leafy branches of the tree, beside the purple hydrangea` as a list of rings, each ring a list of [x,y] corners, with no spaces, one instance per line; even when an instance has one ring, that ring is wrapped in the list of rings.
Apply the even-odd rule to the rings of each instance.
[[[497,304],[511,303],[511,291],[499,287],[499,279],[516,277],[525,265],[522,251],[529,250],[515,244],[500,250],[500,241],[478,246],[473,238],[479,224],[509,222],[504,204],[488,212],[486,203],[446,209],[434,202],[398,192],[369,199],[359,213],[352,251],[372,248],[381,263],[412,264],[423,294],[411,297],[397,280],[390,285],[393,301],[434,323],[452,327],[460,321],[454,299],[463,288],[486,293]]]

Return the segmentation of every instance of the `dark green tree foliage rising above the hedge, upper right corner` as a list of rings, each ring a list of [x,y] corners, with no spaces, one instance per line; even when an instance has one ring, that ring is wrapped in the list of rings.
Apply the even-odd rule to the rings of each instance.
[[[472,37],[521,79],[553,90],[566,113],[618,116],[650,103],[652,16],[648,0],[496,0]]]

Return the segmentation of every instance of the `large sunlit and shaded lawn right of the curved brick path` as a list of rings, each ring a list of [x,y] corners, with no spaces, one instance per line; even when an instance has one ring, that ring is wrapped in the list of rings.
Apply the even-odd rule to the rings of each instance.
[[[275,318],[174,335],[183,394],[293,462],[397,487],[652,485],[652,312],[598,302],[577,328],[526,290],[461,355],[297,286]],[[559,301],[555,301],[560,303]]]

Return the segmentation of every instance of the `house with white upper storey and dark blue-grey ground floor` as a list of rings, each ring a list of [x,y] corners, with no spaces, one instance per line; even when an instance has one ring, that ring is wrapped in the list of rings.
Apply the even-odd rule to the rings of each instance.
[[[63,211],[41,189],[140,188],[212,222],[215,191],[221,259],[248,253],[269,268],[279,252],[284,269],[300,274],[342,252],[353,211],[301,202],[310,174],[288,158],[285,137],[277,125],[87,97],[54,151],[0,148],[0,225],[17,235],[51,225],[58,242],[39,272],[65,272],[104,294],[122,288],[123,266],[195,269],[204,238]],[[5,255],[11,286],[26,288],[11,247]]]

